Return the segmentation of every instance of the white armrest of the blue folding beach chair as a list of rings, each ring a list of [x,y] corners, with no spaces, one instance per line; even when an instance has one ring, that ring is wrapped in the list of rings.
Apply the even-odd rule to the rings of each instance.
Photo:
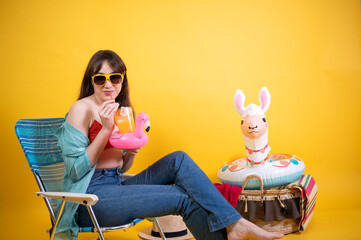
[[[82,205],[92,206],[98,202],[98,196],[94,194],[85,193],[71,193],[71,192],[37,192],[37,196],[47,197],[52,199],[66,200],[68,202],[79,203]]]

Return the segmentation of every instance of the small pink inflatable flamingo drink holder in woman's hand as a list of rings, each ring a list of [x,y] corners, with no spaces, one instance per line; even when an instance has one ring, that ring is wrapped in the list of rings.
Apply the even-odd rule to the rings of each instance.
[[[149,117],[146,113],[139,113],[135,123],[135,132],[120,133],[114,132],[110,135],[109,142],[113,147],[122,149],[134,149],[143,147],[148,142],[148,136],[143,131],[143,123],[145,131],[150,129]]]

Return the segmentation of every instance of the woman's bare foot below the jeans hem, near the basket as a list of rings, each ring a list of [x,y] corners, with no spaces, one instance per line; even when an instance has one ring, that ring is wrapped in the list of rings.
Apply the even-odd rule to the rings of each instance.
[[[227,227],[228,240],[272,240],[282,238],[283,236],[282,233],[267,232],[244,218]]]

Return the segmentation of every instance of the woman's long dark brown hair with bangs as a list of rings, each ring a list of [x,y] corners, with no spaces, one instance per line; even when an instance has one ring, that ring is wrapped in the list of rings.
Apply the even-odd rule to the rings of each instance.
[[[120,106],[132,107],[129,98],[127,68],[125,67],[123,60],[118,56],[118,54],[111,50],[100,50],[96,52],[90,59],[84,73],[83,81],[81,83],[78,100],[88,97],[94,93],[91,76],[99,72],[103,62],[105,61],[108,62],[109,66],[113,69],[114,72],[124,73],[122,90],[115,98],[115,101],[118,102]]]

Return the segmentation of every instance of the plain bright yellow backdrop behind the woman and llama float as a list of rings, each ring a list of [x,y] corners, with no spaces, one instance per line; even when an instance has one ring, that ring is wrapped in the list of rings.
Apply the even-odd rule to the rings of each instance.
[[[63,117],[99,49],[123,58],[135,110],[151,119],[131,173],[184,150],[218,181],[245,156],[235,90],[258,104],[267,86],[272,152],[301,157],[319,186],[309,227],[286,239],[358,238],[359,1],[3,0],[0,29],[2,238],[47,239],[50,222],[16,121]]]

